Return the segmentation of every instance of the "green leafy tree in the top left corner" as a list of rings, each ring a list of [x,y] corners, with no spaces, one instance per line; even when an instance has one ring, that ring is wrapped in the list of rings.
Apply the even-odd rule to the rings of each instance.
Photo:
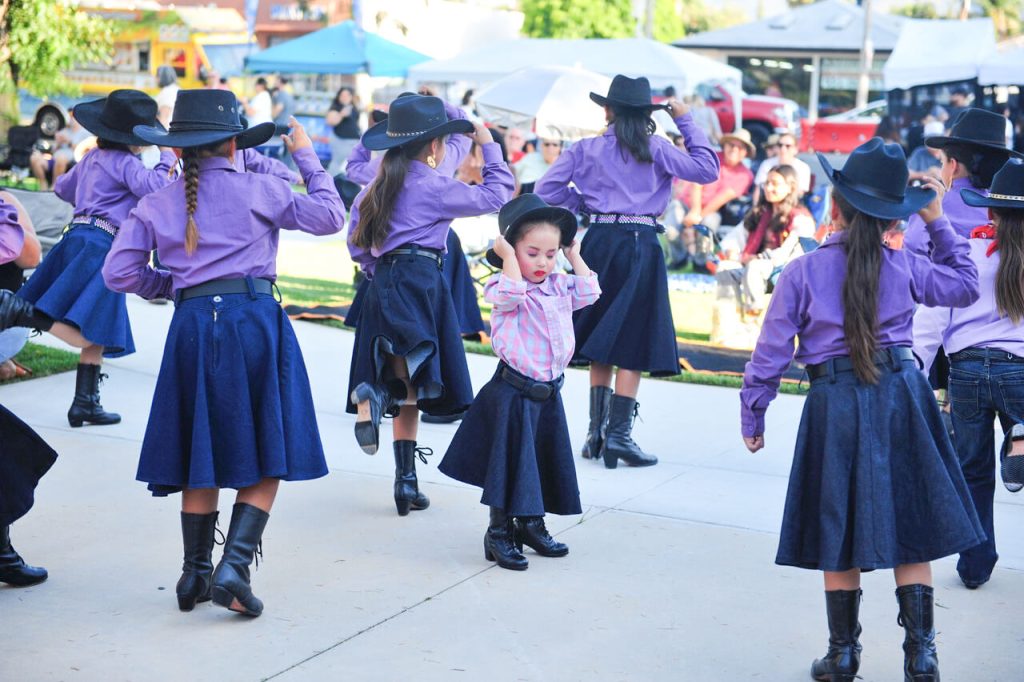
[[[113,24],[69,0],[0,0],[0,126],[17,121],[18,88],[78,94],[66,72],[109,59],[113,44]]]

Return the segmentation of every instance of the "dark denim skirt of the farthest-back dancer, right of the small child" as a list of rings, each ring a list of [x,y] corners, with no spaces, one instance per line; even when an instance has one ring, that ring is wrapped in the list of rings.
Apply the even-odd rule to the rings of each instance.
[[[572,365],[601,363],[655,377],[679,374],[665,254],[651,229],[593,224],[581,255],[601,285],[597,303],[572,314]]]

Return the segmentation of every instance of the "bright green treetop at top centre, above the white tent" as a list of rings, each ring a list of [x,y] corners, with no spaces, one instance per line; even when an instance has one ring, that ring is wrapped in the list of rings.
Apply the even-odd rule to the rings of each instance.
[[[632,0],[522,0],[523,35],[530,38],[632,38]]]

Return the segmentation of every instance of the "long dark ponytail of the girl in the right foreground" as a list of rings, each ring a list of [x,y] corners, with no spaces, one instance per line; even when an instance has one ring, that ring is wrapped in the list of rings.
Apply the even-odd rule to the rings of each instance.
[[[879,278],[882,236],[892,221],[867,215],[833,189],[833,201],[846,222],[846,281],[843,283],[843,331],[853,372],[864,383],[879,382],[874,365],[879,328]]]

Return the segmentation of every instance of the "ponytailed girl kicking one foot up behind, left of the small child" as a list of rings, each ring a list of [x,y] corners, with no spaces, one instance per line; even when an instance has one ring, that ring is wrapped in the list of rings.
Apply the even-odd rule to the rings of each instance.
[[[349,251],[371,278],[355,330],[348,411],[355,438],[377,452],[380,421],[394,420],[394,502],[398,514],[426,509],[416,477],[419,413],[451,415],[469,407],[473,388],[466,353],[441,274],[444,242],[454,218],[498,210],[515,180],[482,125],[483,183],[469,186],[437,172],[444,137],[474,125],[449,120],[437,97],[410,95],[391,104],[387,121],[362,136],[368,150],[386,150],[377,178],[352,208]],[[406,409],[399,412],[399,403]]]

